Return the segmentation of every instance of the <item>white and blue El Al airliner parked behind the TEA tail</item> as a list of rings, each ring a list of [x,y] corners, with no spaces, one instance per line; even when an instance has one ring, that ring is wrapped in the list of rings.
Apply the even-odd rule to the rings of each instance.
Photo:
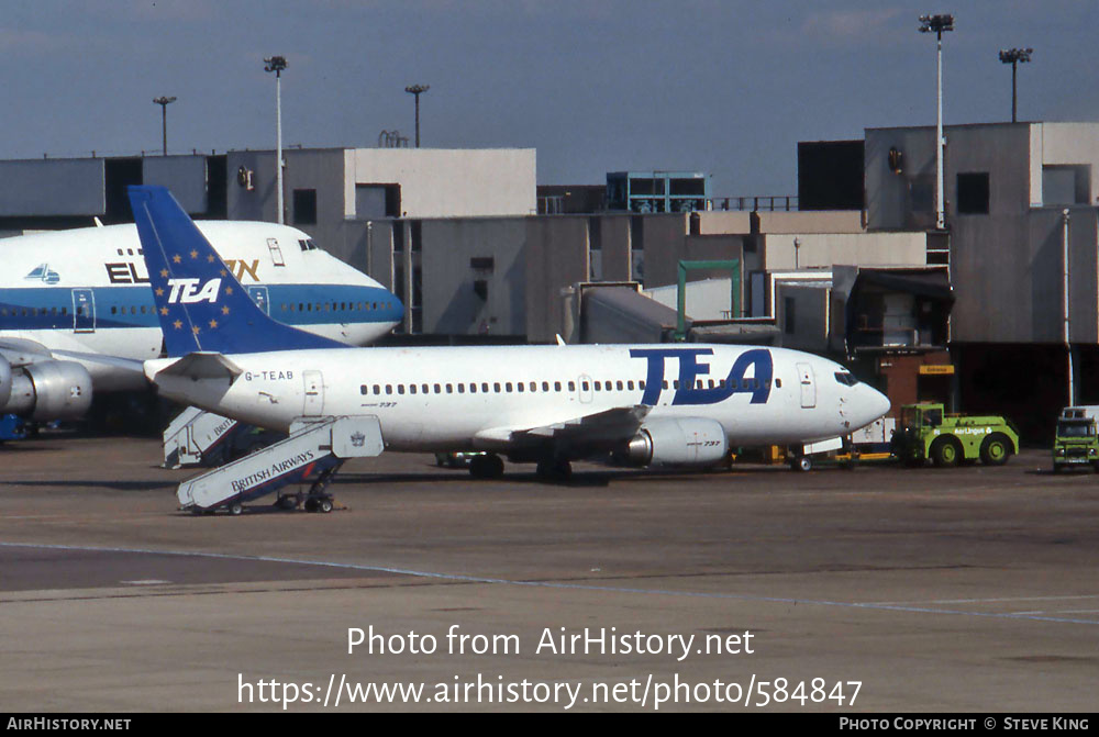
[[[332,339],[368,344],[403,314],[374,279],[285,225],[209,221],[199,231],[219,269],[271,317]],[[0,414],[51,421],[85,413],[95,391],[140,390],[123,364],[163,355],[164,337],[133,225],[0,241]]]

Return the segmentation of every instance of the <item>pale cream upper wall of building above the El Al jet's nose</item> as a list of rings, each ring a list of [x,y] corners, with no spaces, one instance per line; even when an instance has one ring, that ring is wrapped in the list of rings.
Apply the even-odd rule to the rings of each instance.
[[[402,216],[469,217],[537,212],[533,148],[357,148],[345,156],[345,214],[355,185],[400,185]],[[349,208],[349,210],[348,210]]]

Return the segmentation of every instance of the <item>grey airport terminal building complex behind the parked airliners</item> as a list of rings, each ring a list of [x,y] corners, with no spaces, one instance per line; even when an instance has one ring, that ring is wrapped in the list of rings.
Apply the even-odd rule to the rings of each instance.
[[[686,339],[829,354],[895,407],[1044,433],[1068,345],[1077,402],[1099,402],[1099,124],[947,126],[943,230],[934,136],[806,142],[796,197],[735,200],[701,172],[540,188],[533,149],[290,148],[284,215],[402,299],[395,340],[670,340],[682,264],[706,261],[684,279]],[[0,161],[0,231],[127,221],[133,183],[274,221],[275,174],[273,150]]]

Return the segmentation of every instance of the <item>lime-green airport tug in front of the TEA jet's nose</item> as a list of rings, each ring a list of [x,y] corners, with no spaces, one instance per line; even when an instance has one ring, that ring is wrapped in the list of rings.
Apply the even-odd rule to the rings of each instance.
[[[1002,466],[1019,453],[1019,432],[1007,417],[946,414],[942,404],[931,402],[906,404],[890,450],[913,467],[929,458],[939,468],[978,458],[986,466]]]

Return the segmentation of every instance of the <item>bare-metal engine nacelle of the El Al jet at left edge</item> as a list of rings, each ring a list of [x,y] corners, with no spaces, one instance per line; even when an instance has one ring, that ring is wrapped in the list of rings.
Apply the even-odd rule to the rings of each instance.
[[[0,412],[27,420],[76,420],[91,406],[91,375],[74,361],[42,361],[12,369],[0,356]]]

